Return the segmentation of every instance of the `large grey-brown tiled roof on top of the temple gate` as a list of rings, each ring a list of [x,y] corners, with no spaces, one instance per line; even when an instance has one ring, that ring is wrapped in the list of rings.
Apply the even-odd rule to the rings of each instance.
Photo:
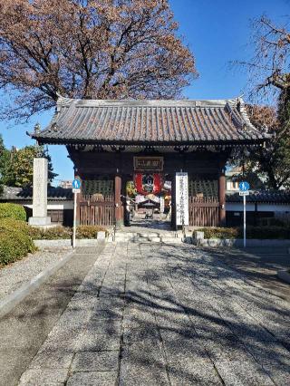
[[[40,143],[208,144],[267,138],[250,123],[244,102],[104,101],[60,98]]]

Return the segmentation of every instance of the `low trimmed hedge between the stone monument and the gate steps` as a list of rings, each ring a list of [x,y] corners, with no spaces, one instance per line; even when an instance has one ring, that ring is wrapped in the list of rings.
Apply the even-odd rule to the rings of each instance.
[[[104,227],[99,226],[78,226],[76,228],[76,238],[97,238],[97,233],[100,231],[106,232]],[[29,227],[29,234],[34,240],[58,240],[72,238],[72,227],[49,227],[41,229],[37,227]]]

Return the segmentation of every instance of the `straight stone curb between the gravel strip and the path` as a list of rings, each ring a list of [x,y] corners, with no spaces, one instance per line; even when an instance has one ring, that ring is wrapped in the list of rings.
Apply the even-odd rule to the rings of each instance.
[[[8,314],[17,304],[19,304],[24,297],[31,294],[34,289],[38,288],[43,282],[50,276],[53,275],[59,268],[67,263],[73,257],[73,252],[63,256],[57,263],[48,266],[38,275],[34,276],[29,282],[21,285],[20,288],[16,289],[12,294],[8,294],[4,300],[0,301],[0,317]]]

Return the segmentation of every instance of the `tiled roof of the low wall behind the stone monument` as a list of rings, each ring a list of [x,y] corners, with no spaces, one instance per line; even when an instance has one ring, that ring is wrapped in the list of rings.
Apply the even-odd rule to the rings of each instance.
[[[31,201],[33,199],[33,188],[4,187],[0,195],[0,201]],[[47,188],[47,199],[49,201],[72,200],[73,190],[71,188]]]

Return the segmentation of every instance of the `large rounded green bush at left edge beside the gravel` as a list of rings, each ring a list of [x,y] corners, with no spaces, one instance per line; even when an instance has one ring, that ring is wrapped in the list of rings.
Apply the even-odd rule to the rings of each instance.
[[[0,218],[0,265],[7,265],[36,250],[24,221]]]

